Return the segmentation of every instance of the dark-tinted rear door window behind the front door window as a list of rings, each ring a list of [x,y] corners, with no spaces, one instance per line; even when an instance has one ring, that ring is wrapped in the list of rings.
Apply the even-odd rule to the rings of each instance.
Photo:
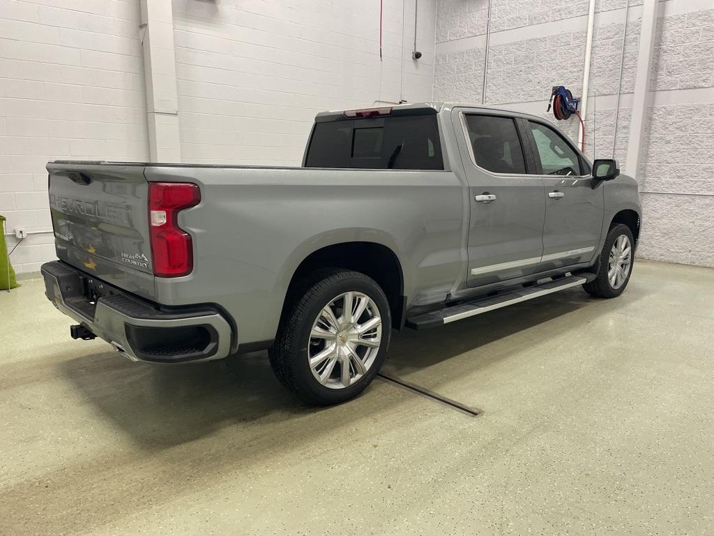
[[[526,173],[521,139],[512,117],[466,115],[476,164],[494,173]]]

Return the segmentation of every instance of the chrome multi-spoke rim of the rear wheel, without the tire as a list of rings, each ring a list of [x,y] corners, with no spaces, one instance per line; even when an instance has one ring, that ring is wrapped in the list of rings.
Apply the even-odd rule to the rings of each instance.
[[[358,382],[374,363],[382,339],[377,304],[362,292],[333,298],[310,332],[308,360],[315,379],[330,389]]]

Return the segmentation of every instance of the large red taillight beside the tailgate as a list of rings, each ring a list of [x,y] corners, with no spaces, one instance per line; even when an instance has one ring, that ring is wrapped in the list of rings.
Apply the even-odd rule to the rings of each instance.
[[[149,183],[149,228],[154,274],[179,277],[193,269],[191,235],[178,227],[178,213],[201,202],[196,184]]]

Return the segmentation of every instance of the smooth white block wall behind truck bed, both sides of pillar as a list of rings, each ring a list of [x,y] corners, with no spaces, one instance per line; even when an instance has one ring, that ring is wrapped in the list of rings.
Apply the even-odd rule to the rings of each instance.
[[[381,62],[376,1],[174,0],[183,162],[299,164],[317,111],[431,99],[436,0],[418,4],[423,57],[414,0],[384,0]],[[139,0],[0,0],[7,232],[51,229],[47,161],[149,159],[140,20]],[[39,269],[51,244],[31,234],[15,269]]]

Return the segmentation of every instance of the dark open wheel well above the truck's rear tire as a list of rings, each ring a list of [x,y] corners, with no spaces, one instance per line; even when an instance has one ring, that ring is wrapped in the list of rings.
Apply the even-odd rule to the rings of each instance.
[[[309,274],[322,269],[341,268],[360,272],[371,277],[386,294],[392,316],[392,327],[403,322],[404,275],[401,262],[390,247],[378,242],[340,242],[316,249],[302,260],[293,272],[283,309],[283,316],[301,292],[301,282]]]

